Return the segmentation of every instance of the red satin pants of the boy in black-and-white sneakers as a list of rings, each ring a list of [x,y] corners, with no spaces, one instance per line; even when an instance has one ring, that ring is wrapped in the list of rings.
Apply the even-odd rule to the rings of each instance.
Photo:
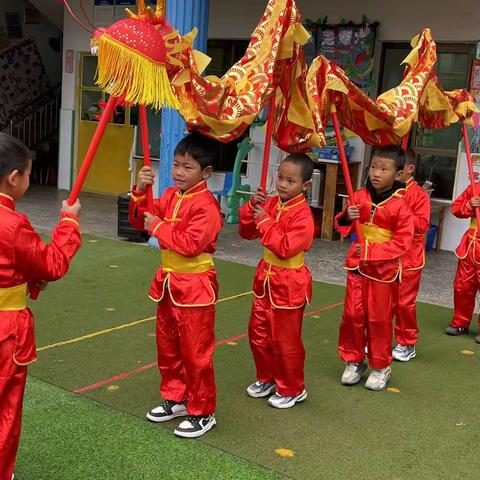
[[[176,307],[169,292],[158,303],[157,356],[165,400],[187,401],[189,415],[215,412],[215,306]]]

